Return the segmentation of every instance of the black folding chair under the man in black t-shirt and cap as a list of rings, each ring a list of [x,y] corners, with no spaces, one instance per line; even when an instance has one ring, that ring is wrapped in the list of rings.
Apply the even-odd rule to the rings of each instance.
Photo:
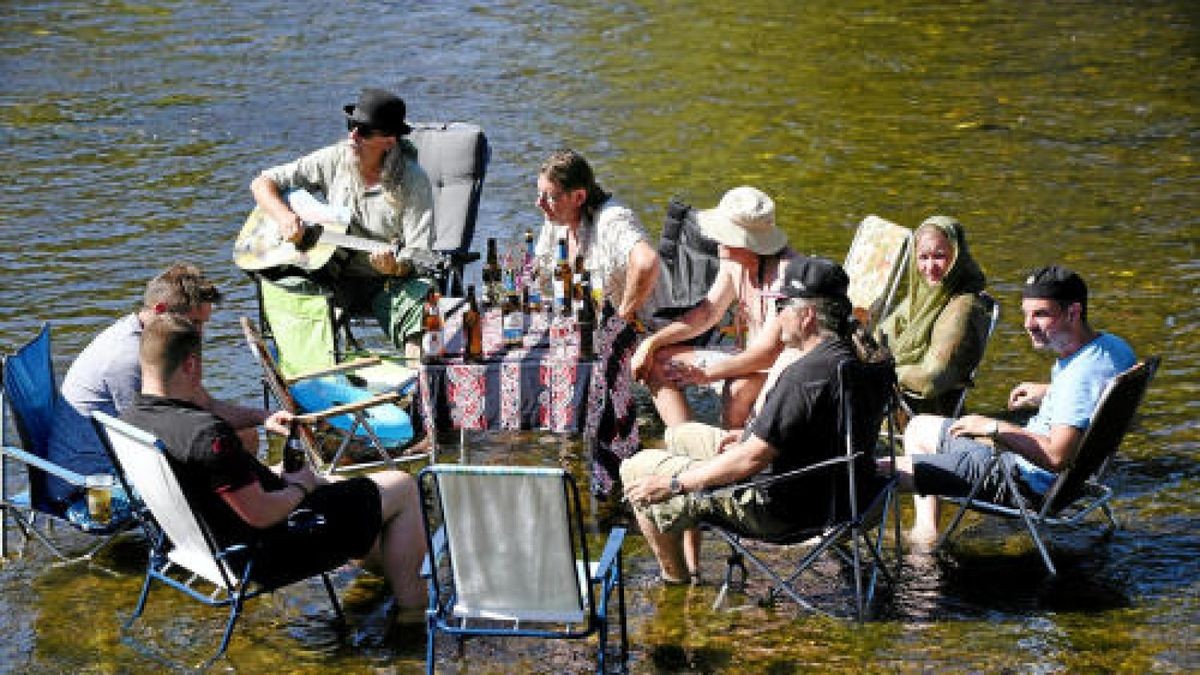
[[[851,372],[857,370],[858,372]],[[845,454],[828,460],[804,466],[779,476],[750,480],[734,485],[727,485],[712,490],[710,492],[731,491],[748,486],[766,488],[775,483],[794,480],[803,476],[817,472],[828,472],[842,468],[846,471],[848,480],[848,518],[830,522],[823,527],[800,527],[785,536],[772,538],[756,538],[743,536],[716,524],[704,524],[706,530],[710,530],[720,536],[730,546],[730,555],[726,561],[725,577],[718,591],[713,609],[719,609],[726,601],[730,590],[734,586],[745,587],[748,571],[745,561],[749,561],[756,569],[767,575],[773,585],[768,591],[768,601],[784,596],[791,598],[802,608],[818,614],[832,615],[815,604],[810,603],[796,587],[799,577],[812,568],[814,563],[826,552],[832,552],[842,563],[851,567],[854,577],[854,616],[859,621],[866,619],[868,611],[875,598],[875,590],[880,578],[888,585],[894,585],[893,573],[888,571],[884,550],[884,538],[887,526],[890,520],[894,527],[894,542],[900,540],[900,512],[896,508],[896,476],[893,472],[883,477],[878,491],[864,504],[858,501],[856,490],[854,462],[864,455],[863,449],[856,449],[865,443],[874,443],[882,438],[887,444],[888,456],[892,459],[890,466],[895,465],[895,369],[890,360],[877,364],[856,364],[844,362],[838,369],[839,386],[842,388],[842,441]],[[857,383],[856,383],[857,382]],[[862,384],[858,384],[862,383]],[[878,390],[881,408],[870,414],[877,418],[868,418],[866,424],[859,430],[863,435],[856,438],[856,416],[863,414],[856,411],[853,401],[862,400],[854,393],[854,387],[868,386]],[[880,425],[886,420],[887,432],[880,432]],[[869,438],[870,441],[865,441]],[[816,539],[816,543],[811,543]],[[776,549],[779,546],[791,546],[810,544],[798,562],[786,575],[774,569],[756,549]],[[899,556],[894,556],[899,562]]]

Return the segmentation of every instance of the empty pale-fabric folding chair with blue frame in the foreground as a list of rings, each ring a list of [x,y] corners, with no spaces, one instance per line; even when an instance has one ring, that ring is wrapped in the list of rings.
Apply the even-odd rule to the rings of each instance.
[[[432,465],[418,483],[430,554],[426,669],[438,633],[586,638],[599,634],[605,671],[610,602],[620,611],[619,663],[625,664],[622,543],[613,527],[592,562],[580,492],[562,468]]]

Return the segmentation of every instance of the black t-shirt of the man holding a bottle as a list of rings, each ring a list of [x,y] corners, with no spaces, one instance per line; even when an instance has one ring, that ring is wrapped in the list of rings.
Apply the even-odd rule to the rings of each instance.
[[[246,542],[254,528],[221,495],[254,482],[264,490],[282,490],[284,480],[242,447],[238,434],[220,417],[188,402],[138,395],[121,414],[130,424],[157,436],[184,495],[220,545]]]

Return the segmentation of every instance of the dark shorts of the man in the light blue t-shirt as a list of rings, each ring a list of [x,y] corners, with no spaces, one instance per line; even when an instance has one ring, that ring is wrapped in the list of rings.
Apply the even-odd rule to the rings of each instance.
[[[920,495],[965,497],[971,492],[971,486],[976,480],[988,470],[992,456],[991,446],[965,436],[952,436],[948,429],[953,422],[953,419],[947,419],[942,425],[937,454],[912,456],[913,486]],[[1040,496],[1025,485],[1015,462],[1008,462],[1008,465],[1018,490],[1026,500],[1040,503]],[[983,486],[979,488],[976,497],[998,504],[1016,506],[1012,491],[998,472],[992,472],[984,478]]]

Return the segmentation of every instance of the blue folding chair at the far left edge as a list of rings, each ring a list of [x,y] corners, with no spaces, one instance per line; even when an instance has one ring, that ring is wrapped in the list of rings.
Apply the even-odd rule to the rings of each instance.
[[[7,461],[0,460],[0,556],[7,555],[8,515],[13,516],[24,536],[24,542],[37,539],[61,562],[91,560],[101,549],[112,543],[116,534],[134,525],[128,501],[124,495],[114,495],[113,518],[108,524],[95,521],[88,513],[86,497],[80,494],[70,503],[58,503],[47,496],[47,480],[56,477],[66,483],[84,488],[86,477],[47,459],[50,430],[55,411],[70,404],[59,393],[50,359],[50,324],[30,342],[2,359],[4,389],[0,392],[0,413],[8,411],[22,447],[10,443],[7,425],[0,414],[0,446],[4,458],[25,465],[28,490],[18,495],[8,494],[5,476]],[[56,540],[55,524],[95,536],[83,552],[68,555],[66,542]]]

